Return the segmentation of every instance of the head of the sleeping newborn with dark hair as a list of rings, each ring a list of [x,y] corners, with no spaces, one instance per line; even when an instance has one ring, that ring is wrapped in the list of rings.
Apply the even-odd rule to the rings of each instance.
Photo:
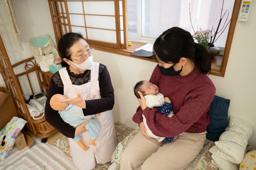
[[[159,93],[158,86],[150,83],[149,81],[140,81],[134,86],[133,92],[137,98],[140,98],[138,91],[140,91],[143,96],[149,94],[156,95]]]

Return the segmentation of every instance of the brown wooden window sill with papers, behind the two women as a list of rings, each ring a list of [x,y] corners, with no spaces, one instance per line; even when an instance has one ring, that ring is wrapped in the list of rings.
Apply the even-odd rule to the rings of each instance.
[[[90,44],[90,46],[94,47],[96,50],[101,50],[101,51],[120,54],[120,55],[124,55],[124,56],[128,56],[128,57],[133,57],[133,58],[138,58],[138,59],[142,59],[142,60],[156,62],[154,60],[153,56],[140,57],[140,56],[131,55],[130,53],[134,52],[135,49],[146,44],[146,43],[135,42],[135,41],[131,41],[131,43],[132,43],[132,45],[128,46],[128,49],[116,49],[116,48],[104,47],[104,46],[94,45],[94,44]],[[222,58],[223,58],[223,55],[217,55],[213,59],[211,59],[211,72],[210,72],[211,75],[224,77],[224,75],[221,74]]]

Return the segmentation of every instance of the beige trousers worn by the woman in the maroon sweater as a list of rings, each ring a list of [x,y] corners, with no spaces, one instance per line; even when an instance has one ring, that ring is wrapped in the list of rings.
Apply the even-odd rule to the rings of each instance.
[[[201,151],[206,140],[203,133],[182,133],[174,142],[158,144],[141,131],[121,153],[120,170],[183,170]]]

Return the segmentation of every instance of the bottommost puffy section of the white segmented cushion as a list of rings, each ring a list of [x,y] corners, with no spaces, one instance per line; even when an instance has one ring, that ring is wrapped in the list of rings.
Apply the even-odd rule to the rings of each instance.
[[[212,157],[211,163],[213,163],[216,167],[218,167],[219,170],[238,170],[239,169],[239,166],[237,164],[228,162],[215,155],[211,155],[211,157]]]

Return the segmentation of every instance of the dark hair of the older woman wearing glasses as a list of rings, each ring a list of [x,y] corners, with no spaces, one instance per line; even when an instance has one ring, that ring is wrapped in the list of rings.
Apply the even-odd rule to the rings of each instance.
[[[66,33],[60,38],[58,43],[58,50],[62,59],[62,67],[68,66],[68,64],[63,59],[66,58],[70,60],[71,54],[69,49],[74,45],[75,42],[79,41],[80,39],[84,39],[82,34],[76,32]]]

